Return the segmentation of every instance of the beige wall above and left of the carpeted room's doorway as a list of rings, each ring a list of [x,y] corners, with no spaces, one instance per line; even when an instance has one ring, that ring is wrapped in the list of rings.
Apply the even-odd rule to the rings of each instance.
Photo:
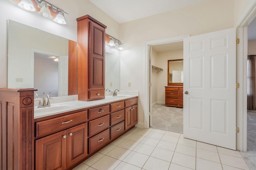
[[[207,1],[120,25],[120,39],[125,48],[121,52],[120,87],[121,90],[139,91],[140,124],[144,123],[144,111],[148,101],[145,98],[145,41],[186,34],[198,35],[232,27],[234,0]],[[128,82],[131,82],[131,87],[127,86]]]

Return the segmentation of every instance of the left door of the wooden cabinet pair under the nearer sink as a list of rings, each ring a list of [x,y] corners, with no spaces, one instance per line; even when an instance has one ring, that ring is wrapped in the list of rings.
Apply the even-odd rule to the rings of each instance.
[[[66,169],[66,131],[36,140],[36,170]]]

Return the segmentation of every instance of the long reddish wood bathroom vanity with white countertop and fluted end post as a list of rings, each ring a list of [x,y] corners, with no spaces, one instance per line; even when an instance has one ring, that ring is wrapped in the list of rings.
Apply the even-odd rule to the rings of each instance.
[[[137,95],[38,109],[33,95],[33,89],[0,89],[6,169],[72,169],[138,123]]]

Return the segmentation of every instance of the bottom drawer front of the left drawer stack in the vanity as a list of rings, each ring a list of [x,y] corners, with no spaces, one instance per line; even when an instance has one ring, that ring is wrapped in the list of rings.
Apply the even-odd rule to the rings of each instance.
[[[103,131],[102,133],[99,133],[98,135],[95,135],[94,137],[89,138],[89,154],[91,152],[94,152],[97,149],[100,149],[103,147],[106,143],[110,141],[110,130],[109,128]]]

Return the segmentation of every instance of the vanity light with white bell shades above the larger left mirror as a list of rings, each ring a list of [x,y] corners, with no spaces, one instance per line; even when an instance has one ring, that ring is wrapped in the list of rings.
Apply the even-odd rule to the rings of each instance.
[[[66,24],[64,14],[68,15],[68,13],[45,0],[13,0],[13,1],[19,2],[18,6],[20,6],[20,8],[24,10],[38,11],[38,14],[46,18],[54,18],[55,16],[54,21],[56,23]],[[34,4],[37,4],[36,8]],[[50,9],[49,9],[49,6],[51,7]]]

